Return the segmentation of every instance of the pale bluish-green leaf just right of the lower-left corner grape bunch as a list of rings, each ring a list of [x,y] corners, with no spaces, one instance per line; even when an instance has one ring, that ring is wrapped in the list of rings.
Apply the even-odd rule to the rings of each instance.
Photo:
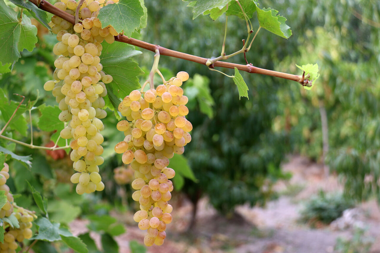
[[[54,242],[61,240],[59,235],[59,226],[57,222],[51,222],[47,218],[42,217],[35,222],[38,228],[38,234],[33,236],[31,240],[44,240],[49,242]]]

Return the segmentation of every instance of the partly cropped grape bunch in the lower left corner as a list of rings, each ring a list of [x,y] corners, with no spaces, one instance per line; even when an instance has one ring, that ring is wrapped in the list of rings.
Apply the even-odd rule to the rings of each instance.
[[[0,171],[0,190],[5,191],[7,196],[7,202],[0,210],[0,218],[9,217],[11,214],[19,221],[19,228],[10,226],[6,221],[3,221],[4,242],[0,242],[0,253],[16,253],[16,249],[19,246],[17,242],[22,242],[24,239],[30,239],[32,237],[32,221],[34,220],[32,213],[29,210],[25,210],[22,207],[17,207],[13,201],[13,196],[9,192],[9,187],[6,185],[6,179],[9,178],[9,166],[4,163],[4,168]],[[17,241],[17,242],[16,242]]]

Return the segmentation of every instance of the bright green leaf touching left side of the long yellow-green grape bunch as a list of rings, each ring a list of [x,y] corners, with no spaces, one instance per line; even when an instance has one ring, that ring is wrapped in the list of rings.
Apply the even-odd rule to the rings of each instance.
[[[61,110],[58,106],[46,106],[45,104],[41,104],[38,106],[41,112],[40,120],[38,121],[38,128],[42,131],[54,131],[60,132],[65,126],[62,121],[58,119],[58,115]]]

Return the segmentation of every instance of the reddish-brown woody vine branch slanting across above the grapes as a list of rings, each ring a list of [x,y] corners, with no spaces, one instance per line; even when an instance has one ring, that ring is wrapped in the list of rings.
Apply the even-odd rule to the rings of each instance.
[[[71,15],[65,11],[62,11],[61,9],[55,7],[54,5],[52,5],[51,3],[49,3],[45,0],[29,0],[29,1],[44,11],[52,13],[58,17],[61,17],[62,19],[65,19],[66,21],[70,22],[71,24],[76,24],[75,23],[75,17],[73,15]],[[133,46],[137,46],[137,47],[140,47],[143,49],[147,49],[147,50],[152,51],[152,52],[155,52],[156,49],[158,49],[160,55],[166,55],[166,56],[175,57],[175,58],[179,58],[179,59],[183,59],[183,60],[188,60],[191,62],[200,63],[203,65],[209,66],[211,68],[221,67],[221,68],[232,68],[233,69],[236,67],[238,70],[246,71],[248,73],[264,74],[267,76],[275,76],[275,77],[280,77],[280,78],[296,81],[296,82],[303,84],[303,82],[300,82],[301,76],[294,75],[294,74],[282,73],[282,72],[278,72],[278,71],[274,71],[274,70],[266,70],[266,69],[258,68],[258,67],[255,67],[255,66],[252,66],[249,64],[242,65],[242,64],[236,64],[236,63],[230,63],[230,62],[215,61],[210,65],[209,64],[210,60],[207,58],[174,51],[171,49],[167,49],[165,47],[161,47],[158,45],[147,43],[145,41],[136,40],[134,38],[129,38],[125,35],[117,35],[117,36],[115,36],[115,40],[123,42],[123,43],[131,44]]]

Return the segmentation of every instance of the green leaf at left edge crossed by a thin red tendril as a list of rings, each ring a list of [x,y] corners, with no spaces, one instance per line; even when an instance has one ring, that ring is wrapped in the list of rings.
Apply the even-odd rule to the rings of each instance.
[[[1,0],[0,0],[1,2]],[[21,98],[20,98],[21,99]],[[8,122],[8,120],[12,117],[14,111],[16,111],[19,106],[20,101],[9,101],[5,95],[5,92],[0,89],[0,119],[3,119],[4,122]],[[17,109],[16,114],[14,114],[11,122],[9,122],[8,128],[11,130],[17,130],[23,136],[27,135],[28,123],[25,120],[24,115],[22,115],[26,111],[25,104],[21,104],[19,109]]]

